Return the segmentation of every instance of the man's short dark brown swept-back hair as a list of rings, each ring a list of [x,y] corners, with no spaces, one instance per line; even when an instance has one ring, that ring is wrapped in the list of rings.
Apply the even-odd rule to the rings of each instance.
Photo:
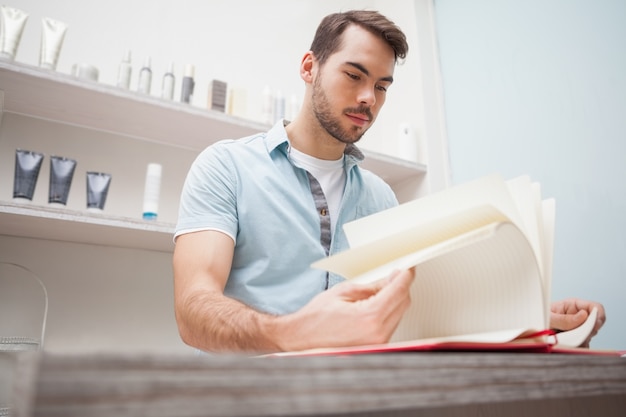
[[[393,49],[396,61],[406,57],[409,45],[406,36],[395,23],[375,11],[351,10],[330,14],[317,27],[311,52],[320,65],[339,49],[343,32],[351,24],[358,25],[387,42]]]

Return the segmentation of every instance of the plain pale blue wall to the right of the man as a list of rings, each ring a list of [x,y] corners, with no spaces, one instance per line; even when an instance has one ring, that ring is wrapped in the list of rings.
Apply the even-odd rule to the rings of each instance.
[[[626,3],[435,0],[454,183],[530,174],[557,204],[553,298],[626,348]]]

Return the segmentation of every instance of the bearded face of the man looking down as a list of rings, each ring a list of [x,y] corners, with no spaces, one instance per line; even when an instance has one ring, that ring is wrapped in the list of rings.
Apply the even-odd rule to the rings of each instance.
[[[355,143],[376,120],[393,82],[395,55],[382,39],[352,25],[313,81],[313,112],[340,142]]]

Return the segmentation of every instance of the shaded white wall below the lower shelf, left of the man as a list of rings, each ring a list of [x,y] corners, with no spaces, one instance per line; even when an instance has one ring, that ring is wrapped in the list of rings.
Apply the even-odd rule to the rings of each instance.
[[[0,236],[0,260],[46,286],[47,351],[191,351],[174,320],[170,253]]]

